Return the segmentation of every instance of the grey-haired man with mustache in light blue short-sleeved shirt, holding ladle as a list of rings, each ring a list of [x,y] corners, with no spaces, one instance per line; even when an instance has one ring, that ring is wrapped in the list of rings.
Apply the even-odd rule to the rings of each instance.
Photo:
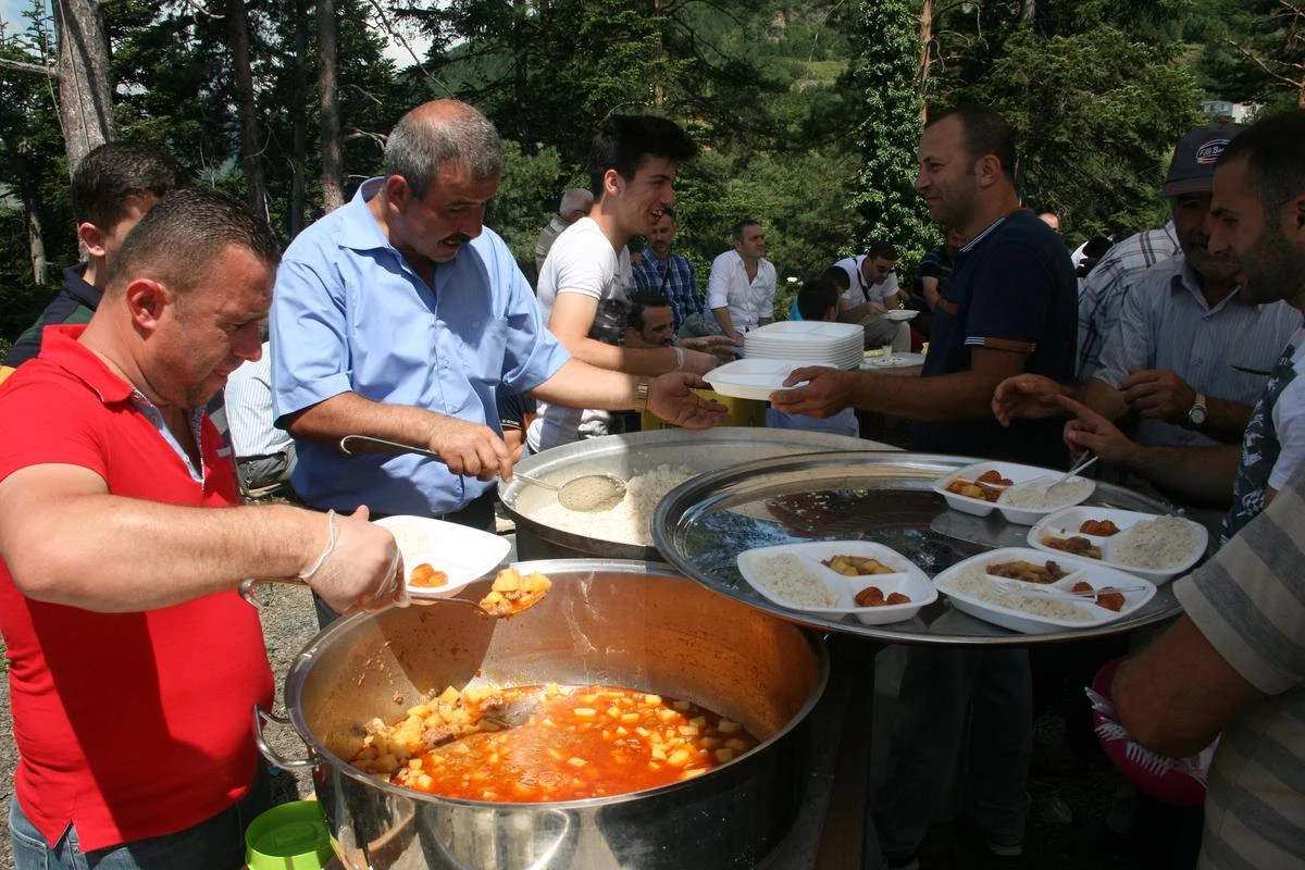
[[[277,275],[271,312],[278,425],[295,436],[292,483],[311,505],[493,522],[492,481],[512,476],[497,390],[559,404],[642,410],[688,428],[723,421],[702,381],[649,382],[572,360],[544,329],[508,247],[484,230],[502,149],[457,100],[425,103],[390,133],[386,175],[305,230]],[[364,434],[438,454],[345,455]]]

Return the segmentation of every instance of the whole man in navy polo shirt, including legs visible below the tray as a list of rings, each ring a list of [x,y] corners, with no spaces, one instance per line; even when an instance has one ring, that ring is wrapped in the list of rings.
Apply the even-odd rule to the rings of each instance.
[[[919,160],[915,187],[929,217],[968,239],[933,309],[923,377],[903,390],[895,377],[797,369],[788,383],[809,383],[773,394],[771,406],[829,416],[852,404],[910,417],[916,450],[1058,464],[1065,449],[1057,427],[1004,430],[990,403],[1010,374],[1073,377],[1077,279],[1069,253],[1051,227],[1021,209],[1014,134],[992,110],[962,106],[932,119]],[[867,828],[877,830],[889,866],[919,866],[915,852],[942,809],[957,758],[966,811],[988,850],[1021,854],[1032,747],[1027,652],[912,647],[898,704],[899,740]]]

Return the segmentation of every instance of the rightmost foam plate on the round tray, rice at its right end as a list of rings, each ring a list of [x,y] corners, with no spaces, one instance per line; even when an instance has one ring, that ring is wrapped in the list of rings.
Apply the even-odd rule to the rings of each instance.
[[[1083,523],[1111,522],[1112,535],[1084,532]],[[1090,527],[1091,528],[1091,527]],[[1094,530],[1104,531],[1104,530]],[[1077,540],[1075,540],[1077,539]],[[1048,540],[1071,541],[1075,550],[1053,547]],[[1086,547],[1086,552],[1077,552]],[[1044,517],[1028,530],[1028,545],[1048,553],[1100,558],[1103,565],[1163,584],[1185,574],[1201,561],[1210,545],[1210,532],[1182,517],[1156,517],[1135,510],[1070,507]]]

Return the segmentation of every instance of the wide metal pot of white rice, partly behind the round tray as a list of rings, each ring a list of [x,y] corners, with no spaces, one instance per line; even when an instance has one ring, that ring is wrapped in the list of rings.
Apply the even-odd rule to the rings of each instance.
[[[891,445],[823,432],[743,427],[720,427],[703,432],[659,429],[577,441],[527,457],[517,463],[517,468],[534,477],[562,484],[578,475],[595,473],[629,480],[663,464],[719,471],[740,462],[795,453],[880,447],[897,450]],[[594,522],[583,533],[540,522],[536,519],[539,510],[556,500],[547,489],[514,480],[500,483],[499,496],[517,523],[517,554],[523,560],[602,556],[662,561],[652,544],[628,544],[604,537],[600,514],[594,515]]]

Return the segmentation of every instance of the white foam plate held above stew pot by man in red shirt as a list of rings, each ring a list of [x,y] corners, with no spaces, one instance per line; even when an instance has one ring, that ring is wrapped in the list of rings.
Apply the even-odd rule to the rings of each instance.
[[[405,583],[414,599],[442,599],[480,579],[508,557],[512,541],[478,528],[429,517],[382,517],[376,520],[394,535],[403,554]],[[412,571],[429,565],[448,579],[440,586],[414,586]]]

